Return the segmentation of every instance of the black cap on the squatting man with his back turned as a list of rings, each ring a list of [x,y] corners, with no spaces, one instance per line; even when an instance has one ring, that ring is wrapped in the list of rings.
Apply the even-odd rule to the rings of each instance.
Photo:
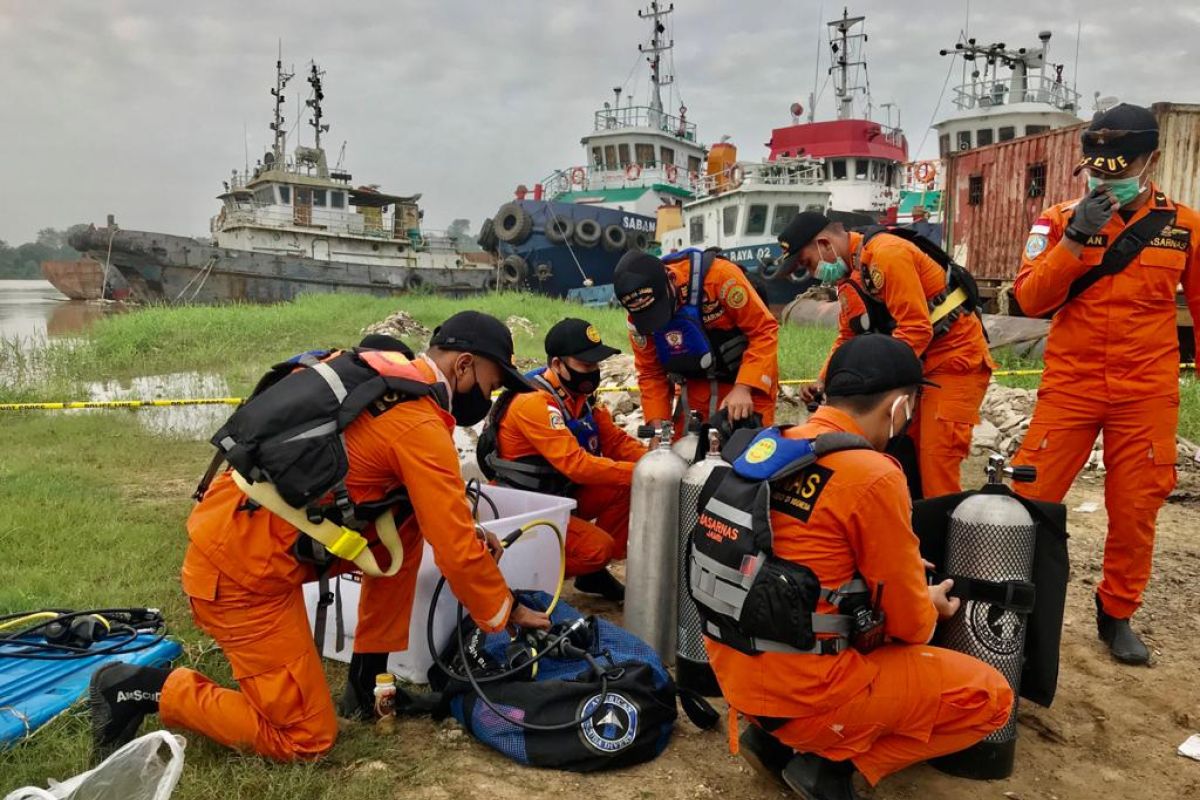
[[[882,333],[856,336],[834,350],[826,369],[827,397],[878,395],[906,386],[935,386],[925,380],[912,348]]]

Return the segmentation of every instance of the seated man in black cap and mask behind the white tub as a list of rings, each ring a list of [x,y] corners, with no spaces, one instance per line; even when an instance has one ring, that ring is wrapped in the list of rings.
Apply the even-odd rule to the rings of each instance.
[[[595,404],[600,362],[618,353],[586,320],[551,327],[547,365],[532,377],[538,391],[502,395],[476,450],[480,468],[500,485],[575,498],[566,576],[580,591],[613,601],[625,599],[625,588],[606,566],[625,558],[634,463],[646,455]]]

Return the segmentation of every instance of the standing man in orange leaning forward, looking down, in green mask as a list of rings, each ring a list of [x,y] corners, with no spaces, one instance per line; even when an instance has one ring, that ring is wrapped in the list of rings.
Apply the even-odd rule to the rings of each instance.
[[[947,295],[946,269],[887,231],[864,245],[863,234],[815,211],[798,213],[779,242],[785,249],[784,276],[803,267],[838,288],[841,311],[830,351],[856,335],[876,331],[904,342],[920,357],[938,387],[922,392],[907,438],[894,443],[894,455],[905,463],[914,498],[961,492],[960,467],[971,450],[995,363],[977,315],[955,309],[934,323],[932,313]],[[817,381],[803,386],[800,397],[812,403],[821,392]]]

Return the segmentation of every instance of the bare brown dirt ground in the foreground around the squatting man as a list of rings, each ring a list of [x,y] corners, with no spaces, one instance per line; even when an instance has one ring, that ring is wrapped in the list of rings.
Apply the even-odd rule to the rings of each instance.
[[[966,474],[980,474],[970,463]],[[1200,732],[1200,480],[1181,475],[1176,499],[1159,515],[1154,577],[1136,627],[1153,648],[1151,666],[1122,667],[1096,637],[1092,594],[1100,578],[1108,516],[1103,479],[1082,476],[1067,498],[1070,509],[1072,577],[1063,630],[1062,667],[1054,706],[1020,708],[1015,774],[1004,781],[971,782],[929,766],[894,775],[863,796],[874,800],[1075,800],[1110,798],[1200,798],[1200,762],[1176,747]],[[974,485],[976,481],[968,481]],[[1094,512],[1076,509],[1099,504]],[[581,609],[611,606],[568,600]],[[721,706],[724,710],[724,706]],[[428,721],[406,721],[401,736],[428,736]],[[725,723],[700,732],[680,712],[667,751],[641,766],[600,775],[522,768],[469,739],[452,722],[421,747],[404,798],[493,800],[559,798],[782,798],[728,754]],[[406,750],[409,750],[406,747]],[[365,762],[360,769],[386,769]],[[401,796],[397,795],[397,796]]]

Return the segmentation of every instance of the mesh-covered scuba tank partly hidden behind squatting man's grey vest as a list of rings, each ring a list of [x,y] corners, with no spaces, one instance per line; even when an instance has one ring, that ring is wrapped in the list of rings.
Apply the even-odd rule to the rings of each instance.
[[[721,458],[721,437],[708,432],[708,453],[684,473],[679,486],[679,643],[676,660],[676,684],[706,697],[720,697],[721,687],[708,664],[704,650],[704,628],[696,609],[696,601],[688,591],[688,542],[700,512],[700,494],[713,473],[726,470],[730,464]]]

